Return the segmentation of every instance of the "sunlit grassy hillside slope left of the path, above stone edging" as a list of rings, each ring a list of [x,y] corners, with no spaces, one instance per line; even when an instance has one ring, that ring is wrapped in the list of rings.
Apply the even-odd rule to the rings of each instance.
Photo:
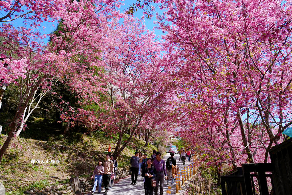
[[[0,146],[5,139],[6,135],[0,135]],[[104,132],[95,132],[91,136],[74,133],[65,137],[60,134],[47,139],[40,141],[19,137],[12,141],[0,164],[0,181],[6,187],[6,194],[24,194],[32,187],[44,189],[46,186],[68,183],[70,177],[90,177],[96,162],[104,159],[107,153],[97,150],[100,143],[115,141],[114,137],[111,140],[105,138]],[[129,159],[136,150],[148,155],[153,149],[157,150],[154,146],[144,145],[145,141],[134,137],[117,159],[119,167],[128,167]],[[67,149],[60,151],[61,146]]]

